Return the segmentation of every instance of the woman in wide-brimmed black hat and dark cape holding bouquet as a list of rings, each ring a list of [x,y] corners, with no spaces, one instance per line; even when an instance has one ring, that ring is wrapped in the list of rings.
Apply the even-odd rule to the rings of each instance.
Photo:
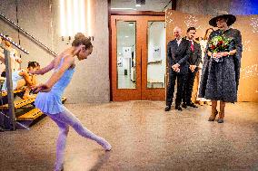
[[[209,22],[213,27],[218,27],[218,30],[213,31],[208,40],[199,97],[212,100],[212,114],[209,121],[215,120],[218,114],[217,101],[220,100],[218,123],[223,123],[225,103],[237,101],[243,47],[240,31],[230,28],[235,21],[233,14],[221,14]],[[221,43],[228,42],[223,51],[214,51],[217,47],[214,46],[214,40],[218,37],[225,38]]]

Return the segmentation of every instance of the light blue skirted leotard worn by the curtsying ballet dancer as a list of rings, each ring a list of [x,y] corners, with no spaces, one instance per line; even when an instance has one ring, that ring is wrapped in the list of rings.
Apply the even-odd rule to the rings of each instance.
[[[64,62],[61,60],[59,66],[55,71],[58,71]],[[35,98],[35,107],[46,114],[57,114],[65,110],[62,104],[62,95],[65,88],[71,81],[74,74],[74,69],[68,69],[63,76],[55,83],[49,92],[39,92]]]

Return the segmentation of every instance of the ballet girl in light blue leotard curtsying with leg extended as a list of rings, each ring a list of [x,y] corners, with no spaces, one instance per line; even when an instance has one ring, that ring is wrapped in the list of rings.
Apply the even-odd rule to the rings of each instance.
[[[71,81],[74,74],[75,58],[79,61],[87,59],[93,52],[93,45],[89,38],[83,33],[77,33],[74,37],[72,47],[65,49],[45,68],[32,73],[45,74],[54,70],[52,76],[44,84],[33,88],[37,94],[35,107],[41,109],[50,119],[53,119],[59,128],[59,135],[56,144],[55,171],[64,169],[65,144],[69,126],[84,138],[90,138],[104,147],[106,151],[111,150],[111,145],[101,137],[85,128],[79,119],[62,104],[61,97],[65,88]]]

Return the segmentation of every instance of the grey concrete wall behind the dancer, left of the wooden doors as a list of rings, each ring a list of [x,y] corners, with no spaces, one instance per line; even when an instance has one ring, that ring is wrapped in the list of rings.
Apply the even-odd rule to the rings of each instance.
[[[59,30],[59,1],[19,0],[19,25],[28,33],[32,33],[41,42],[52,48],[55,52],[62,52],[71,44],[62,42]],[[109,82],[109,49],[108,49],[108,4],[107,1],[92,1],[94,15],[92,18],[94,30],[94,52],[83,62],[76,62],[74,78],[65,90],[69,103],[80,102],[107,102],[110,100]],[[97,6],[97,7],[96,7]],[[1,0],[0,11],[12,21],[16,22],[15,1]],[[99,10],[101,9],[101,10]],[[17,31],[0,19],[0,32],[9,34],[18,42]],[[53,60],[53,56],[44,49],[32,43],[25,35],[20,33],[21,45],[30,54],[22,54],[22,67],[29,61],[38,61],[45,66]],[[40,76],[40,81],[46,81],[50,74]]]

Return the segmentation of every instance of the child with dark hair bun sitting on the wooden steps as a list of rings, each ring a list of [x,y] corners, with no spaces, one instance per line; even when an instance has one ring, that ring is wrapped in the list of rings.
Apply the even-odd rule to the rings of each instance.
[[[35,97],[29,94],[31,86],[36,84],[35,75],[29,72],[38,70],[38,67],[39,65],[37,62],[28,62],[28,67],[26,69],[12,72],[13,89],[20,90],[25,88],[23,99],[30,99]],[[6,79],[2,90],[7,90]]]

